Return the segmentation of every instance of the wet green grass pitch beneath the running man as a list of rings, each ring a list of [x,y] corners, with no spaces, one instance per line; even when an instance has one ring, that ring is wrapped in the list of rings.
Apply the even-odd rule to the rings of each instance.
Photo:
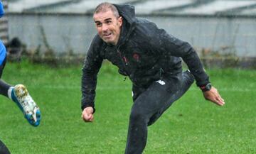
[[[81,66],[82,67],[82,66]],[[124,153],[131,83],[110,65],[98,76],[95,121],[80,119],[81,67],[51,68],[8,63],[2,79],[26,84],[41,107],[34,128],[16,104],[0,97],[0,138],[13,154]],[[208,70],[225,99],[220,107],[193,87],[153,126],[144,154],[256,153],[256,70]]]

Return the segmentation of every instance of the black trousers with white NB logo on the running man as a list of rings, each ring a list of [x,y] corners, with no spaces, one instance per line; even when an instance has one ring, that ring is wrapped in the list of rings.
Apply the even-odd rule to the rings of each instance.
[[[168,79],[164,77],[147,89],[132,88],[134,104],[129,117],[125,154],[142,154],[146,146],[147,126],[159,119],[191,87],[193,81],[193,75],[186,71]]]

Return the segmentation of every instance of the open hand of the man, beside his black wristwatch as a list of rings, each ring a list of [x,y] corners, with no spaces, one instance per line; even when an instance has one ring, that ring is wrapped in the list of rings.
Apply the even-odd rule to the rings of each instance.
[[[203,92],[203,97],[219,106],[223,106],[225,104],[224,99],[220,97],[220,94],[215,87],[211,87],[209,91]]]

